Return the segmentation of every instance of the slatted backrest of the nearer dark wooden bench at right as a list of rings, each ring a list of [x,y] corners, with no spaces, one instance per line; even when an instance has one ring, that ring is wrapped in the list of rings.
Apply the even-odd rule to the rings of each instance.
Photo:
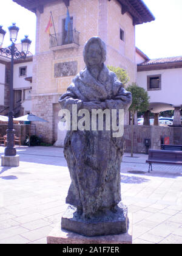
[[[182,161],[182,151],[149,150],[149,160],[174,160]]]

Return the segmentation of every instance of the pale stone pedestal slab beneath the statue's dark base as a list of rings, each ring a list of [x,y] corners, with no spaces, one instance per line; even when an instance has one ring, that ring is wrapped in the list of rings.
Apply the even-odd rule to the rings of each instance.
[[[47,244],[132,244],[132,216],[129,216],[129,229],[118,235],[83,236],[61,229],[57,224],[47,236]]]

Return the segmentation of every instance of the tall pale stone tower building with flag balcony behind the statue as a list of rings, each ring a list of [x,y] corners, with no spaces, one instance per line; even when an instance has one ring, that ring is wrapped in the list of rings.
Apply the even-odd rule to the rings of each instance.
[[[95,35],[107,46],[106,65],[126,69],[136,81],[135,25],[154,20],[141,0],[13,0],[36,13],[36,51],[33,56],[32,112],[49,123],[36,123],[36,133],[61,146],[58,130],[59,96],[84,68],[83,48]],[[69,9],[72,32],[65,35]],[[50,35],[45,28],[52,18]],[[71,40],[70,40],[71,38]],[[127,124],[129,117],[126,116]]]

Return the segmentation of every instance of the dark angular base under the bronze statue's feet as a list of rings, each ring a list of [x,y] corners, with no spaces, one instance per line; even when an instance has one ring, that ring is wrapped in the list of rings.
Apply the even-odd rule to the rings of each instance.
[[[61,219],[61,228],[84,236],[118,235],[128,228],[127,207],[118,204],[116,212],[107,210],[95,219],[83,219],[76,208],[69,205]]]

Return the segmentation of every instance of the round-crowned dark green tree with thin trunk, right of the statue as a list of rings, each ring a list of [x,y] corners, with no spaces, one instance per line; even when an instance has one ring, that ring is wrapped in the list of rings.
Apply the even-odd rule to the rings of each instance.
[[[131,137],[131,157],[133,157],[133,120],[135,113],[145,112],[149,108],[149,95],[144,88],[139,87],[136,83],[132,83],[127,87],[127,91],[132,93],[132,104],[129,107],[132,116],[132,137]]]

